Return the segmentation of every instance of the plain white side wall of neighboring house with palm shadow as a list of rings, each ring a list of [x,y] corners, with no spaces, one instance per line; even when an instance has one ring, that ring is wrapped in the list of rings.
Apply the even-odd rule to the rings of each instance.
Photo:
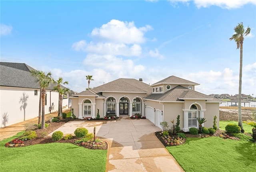
[[[38,95],[34,95],[34,90],[38,90]],[[46,90],[47,105],[45,106],[45,114],[50,113],[50,102],[54,103],[54,110],[58,110],[58,93]],[[25,93],[28,96],[27,107],[25,109],[25,120],[38,117],[39,95],[40,89],[32,88],[16,88],[16,87],[0,87],[0,127],[12,125],[24,121],[24,110],[20,110],[20,98]],[[51,94],[51,101],[50,101]],[[7,113],[8,120],[4,122],[3,116]]]

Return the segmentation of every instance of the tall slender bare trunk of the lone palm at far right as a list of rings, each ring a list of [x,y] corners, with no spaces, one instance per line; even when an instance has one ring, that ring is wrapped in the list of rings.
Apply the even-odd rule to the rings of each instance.
[[[243,65],[243,38],[240,40],[240,70],[239,70],[239,88],[238,88],[238,126],[241,127],[241,133],[244,133],[242,113],[241,113],[241,94],[242,94],[242,65]]]

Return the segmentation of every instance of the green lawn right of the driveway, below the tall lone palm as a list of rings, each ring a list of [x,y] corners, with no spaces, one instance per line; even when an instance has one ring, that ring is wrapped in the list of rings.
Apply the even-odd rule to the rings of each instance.
[[[188,138],[184,145],[166,147],[186,172],[255,171],[256,144],[220,137]]]

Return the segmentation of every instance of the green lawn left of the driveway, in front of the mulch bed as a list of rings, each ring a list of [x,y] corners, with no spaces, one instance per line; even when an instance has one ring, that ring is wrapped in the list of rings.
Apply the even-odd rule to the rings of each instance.
[[[20,135],[22,133],[16,137]],[[107,150],[90,150],[70,143],[4,147],[16,137],[0,141],[0,167],[3,172],[105,172]]]

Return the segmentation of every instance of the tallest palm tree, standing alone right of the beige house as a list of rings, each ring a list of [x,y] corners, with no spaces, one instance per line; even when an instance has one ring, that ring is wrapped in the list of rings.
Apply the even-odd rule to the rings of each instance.
[[[236,49],[240,48],[240,70],[239,70],[239,88],[238,88],[238,125],[241,127],[241,133],[244,133],[244,127],[242,123],[242,114],[241,114],[241,93],[242,93],[242,64],[243,64],[243,43],[244,36],[248,35],[251,31],[250,27],[247,27],[244,32],[243,23],[238,23],[234,28],[234,35],[229,39],[230,41],[234,39],[236,41]]]

